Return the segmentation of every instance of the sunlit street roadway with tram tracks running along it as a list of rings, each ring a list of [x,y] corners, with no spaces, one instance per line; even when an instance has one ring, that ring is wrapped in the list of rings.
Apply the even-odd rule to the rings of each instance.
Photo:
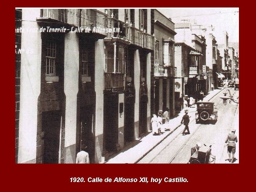
[[[138,163],[187,163],[191,156],[191,148],[197,142],[202,145],[212,145],[212,154],[216,156],[215,163],[229,163],[226,161],[228,155],[224,142],[232,128],[236,129],[239,140],[239,104],[231,102],[224,106],[222,99],[219,97],[223,96],[222,93],[225,90],[222,90],[210,100],[215,103],[215,108],[218,111],[218,121],[215,124],[211,124],[211,122],[196,124],[193,113],[190,118],[192,121],[189,124],[191,134],[183,136],[181,133],[184,125],[180,126]],[[239,90],[234,90],[231,87],[229,90],[231,94],[235,92],[235,96],[239,96]],[[239,142],[236,144],[235,158],[237,160],[234,163],[238,163]]]

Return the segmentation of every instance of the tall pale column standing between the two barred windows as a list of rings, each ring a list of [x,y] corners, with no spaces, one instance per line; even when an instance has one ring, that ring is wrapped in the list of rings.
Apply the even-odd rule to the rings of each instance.
[[[66,95],[64,163],[75,163],[79,80],[79,38],[76,33],[69,32],[65,34],[64,47],[64,93]]]

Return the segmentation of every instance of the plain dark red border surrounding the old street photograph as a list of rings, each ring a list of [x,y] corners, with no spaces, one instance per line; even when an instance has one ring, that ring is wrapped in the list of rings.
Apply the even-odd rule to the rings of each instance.
[[[118,3],[118,4],[117,4]],[[120,4],[121,3],[121,4]],[[160,1],[135,1],[135,3],[131,1],[126,2],[117,2],[117,1],[86,1],[83,4],[74,3],[74,1],[69,1],[68,4],[63,4],[57,1],[37,1],[37,3],[33,2],[24,2],[20,1],[16,4],[16,7],[42,7],[42,6],[50,6],[50,7],[230,7],[230,2],[224,1],[175,1],[175,2],[160,2]],[[238,4],[232,4],[234,7],[239,7]],[[5,167],[6,176],[5,181],[9,183],[10,187],[14,187],[16,190],[25,189],[26,191],[35,191],[35,190],[106,190],[106,191],[119,191],[119,190],[130,190],[130,191],[138,191],[138,190],[161,190],[162,187],[166,187],[165,190],[173,191],[173,190],[189,190],[189,191],[222,191],[222,189],[226,190],[238,190],[236,185],[241,182],[245,182],[247,180],[247,175],[244,175],[244,171],[252,171],[250,168],[248,169],[247,166],[250,164],[253,165],[254,163],[251,161],[247,162],[247,160],[253,160],[253,151],[251,153],[247,153],[249,157],[245,156],[246,150],[250,147],[251,149],[254,148],[254,145],[248,146],[244,143],[247,140],[253,140],[254,138],[245,138],[245,134],[250,134],[251,130],[254,129],[251,124],[251,120],[247,120],[248,113],[241,113],[240,114],[240,122],[242,124],[241,131],[239,135],[239,143],[240,143],[240,159],[239,164],[215,164],[215,165],[197,165],[194,164],[193,166],[189,164],[90,164],[90,165],[83,165],[77,166],[73,164],[59,164],[59,165],[41,165],[41,164],[15,164],[14,160],[14,119],[13,116],[10,114],[14,113],[13,107],[14,106],[14,68],[15,65],[13,62],[9,62],[9,58],[14,57],[14,53],[10,52],[11,46],[14,40],[14,35],[11,32],[11,28],[14,26],[14,7],[4,8],[4,13],[2,13],[5,18],[2,18],[2,48],[7,46],[7,52],[4,50],[2,52],[2,56],[6,58],[6,60],[2,63],[4,66],[5,71],[13,71],[9,75],[9,73],[2,73],[4,75],[4,80],[2,80],[2,95],[6,96],[6,98],[2,99],[2,110],[6,114],[2,122],[4,125],[2,126],[2,148],[4,153],[2,153],[2,162],[3,167]],[[244,16],[242,16],[243,18]],[[247,21],[249,22],[249,21]],[[241,25],[242,22],[240,22]],[[245,26],[244,24],[242,24]],[[249,26],[248,26],[249,27]],[[249,29],[249,28],[247,28]],[[242,31],[242,36],[244,37],[245,32]],[[246,36],[248,38],[248,36]],[[12,40],[10,40],[12,39]],[[251,38],[248,38],[247,43],[250,42]],[[240,47],[244,47],[245,43],[241,41]],[[247,45],[247,44],[246,44]],[[249,50],[249,48],[247,48]],[[7,55],[6,55],[7,53]],[[240,55],[243,55],[243,49],[240,49]],[[10,57],[8,57],[10,54]],[[6,55],[6,56],[5,56]],[[242,64],[242,69],[245,64],[249,64],[251,67],[251,62],[253,60],[249,60],[246,62],[246,59],[249,59],[248,56],[242,56],[240,63]],[[253,56],[252,56],[253,57]],[[241,65],[240,65],[241,66]],[[5,69],[6,68],[6,69]],[[252,70],[249,70],[252,71]],[[251,90],[249,84],[245,84],[245,72],[240,73],[240,77],[242,81],[242,94],[243,90]],[[246,87],[247,86],[247,87]],[[244,92],[245,94],[245,92]],[[248,95],[248,92],[247,92]],[[251,95],[251,94],[249,94]],[[241,95],[243,98],[243,95]],[[249,98],[248,98],[249,99]],[[254,99],[253,99],[254,100]],[[8,101],[8,102],[5,102]],[[253,107],[253,102],[248,107]],[[5,106],[6,105],[6,106]],[[248,108],[247,107],[247,108]],[[246,106],[242,105],[240,110],[245,111],[247,110]],[[250,125],[249,125],[250,122]],[[248,123],[248,126],[247,126]],[[6,130],[6,131],[5,131]],[[243,131],[244,130],[244,131]],[[247,139],[247,140],[246,140]],[[246,149],[247,148],[247,149]],[[6,165],[6,166],[5,166]],[[9,176],[9,177],[7,177]],[[186,183],[165,183],[161,182],[158,183],[73,183],[70,182],[71,177],[101,177],[106,178],[110,177],[114,179],[115,177],[125,177],[125,178],[138,178],[139,177],[148,177],[148,180],[151,177],[154,178],[176,178],[176,177],[184,177],[187,178],[189,182]],[[12,181],[11,181],[12,180]],[[5,182],[3,181],[3,182]],[[160,187],[160,188],[159,188]]]

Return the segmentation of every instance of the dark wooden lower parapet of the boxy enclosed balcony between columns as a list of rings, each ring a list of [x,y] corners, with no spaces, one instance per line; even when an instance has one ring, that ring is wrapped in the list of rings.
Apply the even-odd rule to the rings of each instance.
[[[105,91],[124,91],[123,73],[104,73]]]

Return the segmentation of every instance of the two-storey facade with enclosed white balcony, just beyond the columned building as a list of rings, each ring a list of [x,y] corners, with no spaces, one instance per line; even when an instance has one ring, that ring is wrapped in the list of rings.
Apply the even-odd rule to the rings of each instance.
[[[174,64],[174,23],[158,10],[154,10],[154,113],[169,108],[170,116],[175,115],[174,79],[176,67]]]

